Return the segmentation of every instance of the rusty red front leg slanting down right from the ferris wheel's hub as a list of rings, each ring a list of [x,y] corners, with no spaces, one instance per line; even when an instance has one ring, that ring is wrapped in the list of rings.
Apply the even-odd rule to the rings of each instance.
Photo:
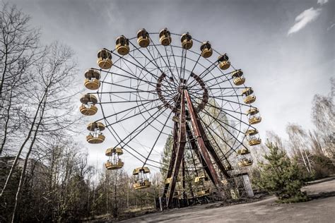
[[[200,150],[201,150],[202,154],[204,155],[204,159],[206,161],[207,167],[208,167],[209,171],[211,172],[211,175],[213,176],[214,185],[216,186],[216,188],[218,188],[219,191],[221,191],[222,183],[218,179],[218,174],[216,174],[216,170],[214,169],[214,165],[211,162],[211,157],[209,157],[209,154],[207,152],[207,147],[204,143],[203,135],[202,135],[202,133],[199,129],[199,127],[201,126],[201,123],[199,123],[199,121],[198,121],[198,119],[199,119],[198,114],[196,114],[196,111],[193,107],[191,98],[189,97],[189,93],[187,92],[187,90],[184,90],[184,95],[185,95],[186,102],[187,102],[187,108],[189,109],[189,115],[191,116],[191,122],[192,122],[193,130],[194,130],[194,134],[196,136],[196,141],[198,142]]]

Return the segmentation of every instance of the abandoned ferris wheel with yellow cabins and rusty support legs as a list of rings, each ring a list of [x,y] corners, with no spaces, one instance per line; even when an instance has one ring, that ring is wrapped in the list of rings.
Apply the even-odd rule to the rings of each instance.
[[[80,111],[93,116],[100,110],[102,118],[88,124],[86,140],[112,138],[107,169],[123,167],[124,151],[134,156],[139,166],[134,188],[151,186],[151,168],[164,169],[163,196],[170,207],[177,182],[185,187],[185,172],[193,173],[195,186],[208,181],[221,188],[234,171],[252,164],[248,146],[261,143],[254,128],[261,121],[252,106],[254,90],[228,54],[210,42],[189,32],[141,29],[136,37],[121,35],[115,47],[101,49],[97,64],[85,73],[90,92],[81,97]],[[169,138],[170,163],[163,163],[160,154]],[[202,187],[196,195],[207,193]]]

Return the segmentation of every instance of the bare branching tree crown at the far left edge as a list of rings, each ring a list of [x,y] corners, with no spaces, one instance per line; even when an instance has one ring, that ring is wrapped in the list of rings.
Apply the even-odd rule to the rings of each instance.
[[[0,11],[0,103],[1,147],[0,155],[8,136],[20,127],[20,97],[23,86],[28,86],[31,66],[40,56],[37,29],[29,27],[30,17],[16,6],[3,4]]]

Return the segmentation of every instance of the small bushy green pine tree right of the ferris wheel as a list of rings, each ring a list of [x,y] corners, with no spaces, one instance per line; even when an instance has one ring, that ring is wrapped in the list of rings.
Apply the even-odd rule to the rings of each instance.
[[[300,190],[305,178],[297,162],[291,161],[277,145],[268,142],[266,146],[269,154],[264,155],[267,162],[259,164],[261,172],[257,186],[276,195],[279,203],[306,201],[306,193]]]

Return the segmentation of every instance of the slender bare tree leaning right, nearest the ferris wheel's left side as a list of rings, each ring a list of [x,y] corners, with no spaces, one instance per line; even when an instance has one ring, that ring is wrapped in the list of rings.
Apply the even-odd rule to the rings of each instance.
[[[43,133],[40,127],[48,126],[52,128],[54,125],[59,126],[61,123],[67,123],[67,120],[64,120],[63,117],[66,116],[66,114],[71,114],[73,109],[69,106],[69,97],[73,97],[73,95],[68,95],[69,90],[71,90],[70,87],[73,84],[74,73],[76,72],[76,64],[73,61],[73,52],[71,49],[57,42],[47,46],[44,56],[42,56],[42,59],[36,64],[36,69],[38,76],[34,82],[35,88],[33,88],[31,92],[30,90],[27,90],[27,92],[31,97],[35,97],[36,95],[35,102],[38,104],[36,113],[37,119],[35,119],[31,131],[28,134],[30,137],[30,134],[33,133],[33,137],[30,137],[30,145],[25,155],[25,163],[16,193],[16,204],[13,210],[12,222],[14,222],[15,219],[16,207],[20,190],[23,186],[23,178],[25,176],[30,152],[33,150],[35,140],[39,133]],[[60,128],[57,129],[61,130]],[[52,132],[54,133],[57,129],[53,129]],[[14,163],[13,167],[15,167]]]

